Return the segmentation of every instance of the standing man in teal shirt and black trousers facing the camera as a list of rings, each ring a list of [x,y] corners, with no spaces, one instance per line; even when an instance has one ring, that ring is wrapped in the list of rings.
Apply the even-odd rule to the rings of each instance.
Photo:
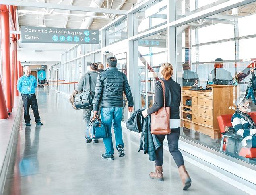
[[[37,78],[35,76],[31,75],[31,70],[29,66],[25,66],[23,68],[24,75],[20,77],[17,81],[17,90],[21,92],[21,97],[23,101],[23,107],[24,107],[24,120],[26,123],[26,126],[30,126],[30,115],[29,115],[29,108],[31,106],[34,117],[35,117],[35,123],[37,125],[43,125],[41,123],[41,119],[38,113],[38,107],[37,107],[37,98],[35,96],[35,88],[37,87]]]

